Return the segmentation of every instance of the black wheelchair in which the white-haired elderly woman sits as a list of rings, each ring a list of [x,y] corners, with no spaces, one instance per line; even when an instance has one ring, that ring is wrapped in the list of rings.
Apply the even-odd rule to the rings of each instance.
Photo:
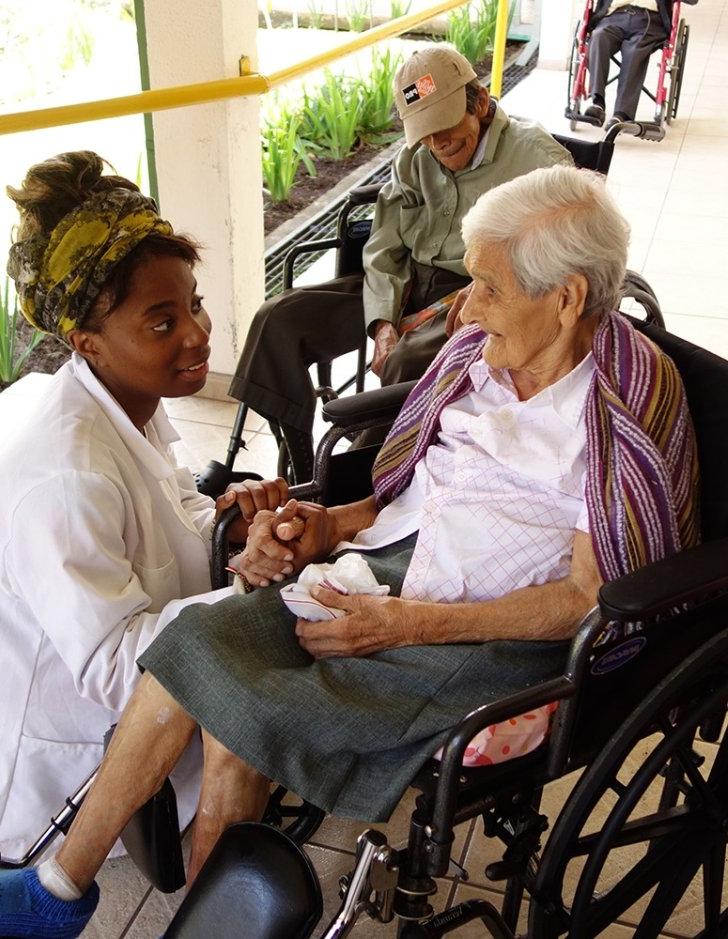
[[[634,936],[654,939],[691,885],[702,899],[696,939],[728,934],[728,361],[660,326],[635,325],[673,358],[685,384],[701,466],[703,544],[606,583],[561,677],[464,717],[441,758],[412,780],[419,795],[407,845],[392,846],[376,830],[360,836],[341,881],[341,909],[320,939],[349,935],[362,915],[398,918],[404,939],[457,933],[475,921],[484,936],[514,939],[526,899],[531,939],[591,939],[630,909],[639,923]],[[325,504],[361,497],[373,454],[332,455],[334,447],[353,430],[390,423],[413,384],[326,403],[333,427],[318,448],[314,479],[292,495]],[[342,483],[351,486],[346,494]],[[214,537],[219,583],[236,512],[225,513]],[[559,708],[538,749],[463,767],[478,731],[552,701]],[[544,786],[576,770],[580,778],[549,818]],[[471,819],[500,843],[502,857],[486,876],[504,885],[501,909],[469,900],[435,914],[436,878],[452,870],[455,828]],[[300,848],[264,826],[238,825],[220,839],[166,936],[192,939],[214,929],[220,939],[306,939],[321,909]]]

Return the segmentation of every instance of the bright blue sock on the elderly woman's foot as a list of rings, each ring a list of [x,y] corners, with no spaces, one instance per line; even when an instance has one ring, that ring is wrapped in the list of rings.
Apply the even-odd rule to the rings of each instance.
[[[0,871],[0,936],[74,939],[98,902],[96,884],[80,900],[59,900],[42,886],[32,867]]]

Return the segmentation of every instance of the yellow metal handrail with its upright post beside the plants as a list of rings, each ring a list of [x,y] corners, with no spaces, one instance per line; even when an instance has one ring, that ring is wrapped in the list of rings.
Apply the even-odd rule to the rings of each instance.
[[[214,82],[200,82],[193,85],[177,85],[173,88],[159,88],[156,91],[142,91],[135,95],[120,98],[105,98],[101,101],[87,101],[82,104],[69,104],[57,108],[39,108],[35,111],[19,111],[15,114],[0,115],[0,135],[15,134],[26,130],[39,130],[43,127],[58,127],[63,124],[80,124],[84,121],[98,121],[108,117],[122,117],[128,114],[163,111],[169,108],[187,107],[192,104],[204,104],[208,101],[220,101],[225,98],[237,98],[246,95],[265,94],[277,85],[290,81],[321,68],[329,62],[340,59],[352,52],[358,52],[372,46],[382,39],[397,36],[413,29],[420,23],[427,22],[440,13],[446,13],[462,6],[466,0],[443,0],[419,13],[400,16],[382,26],[368,29],[355,39],[342,43],[328,52],[303,59],[289,68],[280,69],[270,75],[247,74],[239,78],[224,78]],[[508,0],[499,0],[498,22],[496,25],[495,50],[493,53],[493,77],[491,89],[500,94],[501,76],[506,32],[508,25]],[[498,63],[498,69],[496,68]],[[496,91],[497,87],[497,91]]]

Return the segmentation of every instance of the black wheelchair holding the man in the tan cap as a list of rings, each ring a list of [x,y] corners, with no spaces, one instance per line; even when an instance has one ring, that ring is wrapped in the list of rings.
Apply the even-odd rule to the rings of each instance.
[[[614,153],[614,143],[620,133],[627,133],[637,137],[644,137],[651,133],[651,125],[630,122],[612,128],[603,140],[583,141],[573,137],[563,137],[554,134],[554,139],[565,147],[572,155],[574,163],[584,169],[595,170],[606,176]],[[371,230],[371,218],[362,217],[363,213],[371,211],[371,206],[377,201],[381,185],[360,186],[352,189],[339,213],[337,219],[336,237],[319,241],[301,242],[295,245],[286,255],[283,267],[283,289],[290,290],[293,286],[295,265],[299,258],[308,254],[324,251],[336,251],[336,277],[359,273],[362,270],[362,251]],[[639,274],[627,272],[622,296],[624,299],[633,298],[649,310],[650,316],[658,324],[662,324],[657,298],[649,284]],[[340,397],[352,387],[359,394],[364,390],[364,380],[369,369],[367,361],[366,339],[357,350],[356,373],[344,381],[339,387],[332,387],[331,362],[318,362],[316,364],[317,387],[316,395],[325,403]],[[218,495],[224,491],[231,482],[238,482],[244,478],[234,470],[235,461],[241,448],[244,448],[243,429],[248,415],[248,407],[241,404],[237,410],[233,428],[228,443],[227,456],[224,462],[212,460],[200,474],[198,488],[208,495]],[[275,428],[273,428],[275,432]],[[351,434],[351,439],[355,436]],[[285,442],[277,435],[278,449],[278,475],[290,481],[290,458]],[[251,474],[247,474],[250,476]]]

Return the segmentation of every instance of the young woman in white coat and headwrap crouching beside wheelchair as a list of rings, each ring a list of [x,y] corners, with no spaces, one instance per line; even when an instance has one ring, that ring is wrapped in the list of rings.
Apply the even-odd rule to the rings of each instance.
[[[96,768],[136,660],[180,598],[210,591],[215,503],[176,465],[179,438],[160,403],[207,376],[198,249],[134,183],[103,170],[95,153],[64,153],[8,188],[20,212],[8,263],[20,309],[73,355],[0,449],[5,857],[22,856]],[[280,484],[254,496],[241,487],[245,514],[282,504]],[[200,756],[176,774],[182,824]]]

